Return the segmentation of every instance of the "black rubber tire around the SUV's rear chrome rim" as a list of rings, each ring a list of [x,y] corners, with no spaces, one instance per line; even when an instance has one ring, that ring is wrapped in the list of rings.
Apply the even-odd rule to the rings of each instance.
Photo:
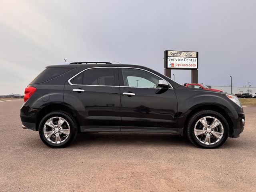
[[[46,139],[46,137],[44,136],[44,124],[46,123],[47,120],[49,120],[50,118],[55,117],[55,116],[64,118],[70,126],[70,133],[68,135],[68,138],[66,138],[65,141],[58,143],[58,144],[48,141]],[[44,116],[42,118],[42,120],[39,124],[40,138],[41,138],[42,142],[44,142],[44,144],[46,144],[47,146],[49,146],[51,148],[64,148],[64,147],[68,146],[76,138],[76,134],[77,134],[76,121],[70,114],[68,114],[67,112],[64,112],[64,111],[54,111],[54,112],[48,113],[46,116]]]

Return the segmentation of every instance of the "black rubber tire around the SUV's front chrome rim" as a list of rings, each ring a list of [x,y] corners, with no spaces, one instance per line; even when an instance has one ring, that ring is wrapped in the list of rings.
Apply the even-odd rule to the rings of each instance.
[[[202,142],[200,142],[195,133],[194,133],[194,128],[196,125],[196,122],[198,122],[198,120],[200,120],[200,118],[206,117],[206,116],[211,116],[214,118],[217,118],[223,126],[223,136],[222,138],[215,144],[204,144]],[[187,130],[187,136],[188,139],[190,140],[190,142],[192,142],[192,144],[194,144],[197,147],[200,148],[218,148],[220,146],[222,146],[227,138],[228,138],[228,134],[229,134],[229,126],[228,126],[228,122],[227,120],[218,112],[216,111],[212,111],[212,110],[202,110],[199,112],[196,112],[195,114],[193,114],[190,119],[188,120],[188,124],[186,126],[186,130]]]

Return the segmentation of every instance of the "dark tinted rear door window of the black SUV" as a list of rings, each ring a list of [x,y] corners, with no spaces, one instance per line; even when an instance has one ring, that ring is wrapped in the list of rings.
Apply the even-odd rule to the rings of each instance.
[[[95,68],[84,72],[84,85],[115,86],[115,68]]]

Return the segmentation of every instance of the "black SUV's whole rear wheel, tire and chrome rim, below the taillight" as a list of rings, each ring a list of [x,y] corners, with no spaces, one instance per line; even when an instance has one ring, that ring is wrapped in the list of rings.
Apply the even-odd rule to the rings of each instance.
[[[76,134],[76,121],[66,112],[50,112],[42,118],[39,124],[41,140],[44,144],[52,148],[68,146],[74,140]]]

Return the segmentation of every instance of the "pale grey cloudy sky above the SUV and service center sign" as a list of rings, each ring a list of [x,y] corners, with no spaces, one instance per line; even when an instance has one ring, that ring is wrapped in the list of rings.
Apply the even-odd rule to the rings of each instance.
[[[198,51],[198,81],[256,87],[252,0],[1,0],[0,95],[48,65],[117,61],[164,73],[164,50]],[[191,82],[190,70],[172,70]]]

